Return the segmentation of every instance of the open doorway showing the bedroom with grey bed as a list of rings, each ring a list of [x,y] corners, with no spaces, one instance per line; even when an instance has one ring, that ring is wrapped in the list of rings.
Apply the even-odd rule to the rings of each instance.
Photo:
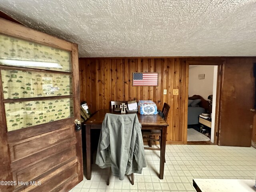
[[[188,144],[214,144],[218,65],[190,65]]]

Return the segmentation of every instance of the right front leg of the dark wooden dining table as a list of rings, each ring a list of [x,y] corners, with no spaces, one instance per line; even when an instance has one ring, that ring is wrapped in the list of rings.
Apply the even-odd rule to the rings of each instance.
[[[164,178],[164,161],[165,161],[165,146],[166,146],[167,127],[163,126],[161,130],[161,150],[160,150],[160,172],[159,178]]]

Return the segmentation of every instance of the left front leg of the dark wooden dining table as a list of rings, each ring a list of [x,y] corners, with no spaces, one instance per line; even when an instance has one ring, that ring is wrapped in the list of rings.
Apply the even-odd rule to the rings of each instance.
[[[92,177],[92,165],[91,165],[91,128],[85,126],[86,132],[86,179],[90,180]]]

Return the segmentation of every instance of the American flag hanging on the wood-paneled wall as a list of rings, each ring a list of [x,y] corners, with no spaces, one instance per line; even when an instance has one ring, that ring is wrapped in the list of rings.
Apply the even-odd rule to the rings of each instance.
[[[158,86],[158,73],[132,73],[132,86]]]

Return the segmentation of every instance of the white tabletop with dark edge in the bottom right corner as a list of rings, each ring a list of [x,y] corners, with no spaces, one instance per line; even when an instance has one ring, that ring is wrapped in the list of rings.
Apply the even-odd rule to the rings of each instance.
[[[256,192],[254,184],[250,179],[193,179],[201,192]]]

